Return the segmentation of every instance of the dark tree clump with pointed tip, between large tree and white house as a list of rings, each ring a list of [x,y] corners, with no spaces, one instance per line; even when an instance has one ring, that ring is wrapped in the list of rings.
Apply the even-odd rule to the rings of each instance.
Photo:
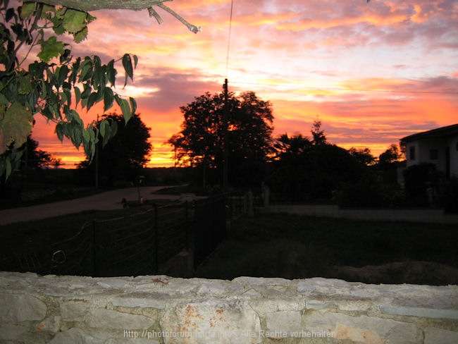
[[[314,121],[313,128],[312,141],[286,134],[276,140],[276,169],[266,183],[283,199],[329,201],[342,183],[353,185],[366,173],[367,167],[359,159],[327,142],[321,122]]]

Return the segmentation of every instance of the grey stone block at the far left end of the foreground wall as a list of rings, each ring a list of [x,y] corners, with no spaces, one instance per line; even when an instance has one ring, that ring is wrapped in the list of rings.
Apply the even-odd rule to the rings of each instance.
[[[0,294],[0,321],[42,320],[47,307],[42,300],[27,294]]]

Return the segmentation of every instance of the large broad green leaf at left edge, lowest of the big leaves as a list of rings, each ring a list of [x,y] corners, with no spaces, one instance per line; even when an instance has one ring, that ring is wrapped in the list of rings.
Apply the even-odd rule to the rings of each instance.
[[[19,102],[14,102],[0,121],[0,154],[6,152],[13,142],[16,148],[27,142],[27,137],[32,133],[32,122],[32,112]]]

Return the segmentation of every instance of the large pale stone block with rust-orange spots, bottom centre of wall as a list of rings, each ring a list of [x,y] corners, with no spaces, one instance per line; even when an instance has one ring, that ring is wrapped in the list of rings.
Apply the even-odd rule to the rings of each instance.
[[[182,303],[160,321],[164,343],[261,343],[259,317],[240,300],[207,298]]]

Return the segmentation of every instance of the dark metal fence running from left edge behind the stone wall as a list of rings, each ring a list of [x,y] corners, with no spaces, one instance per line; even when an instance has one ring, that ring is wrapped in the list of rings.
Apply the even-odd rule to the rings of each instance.
[[[0,270],[139,276],[157,274],[162,264],[189,249],[197,266],[225,238],[227,221],[243,214],[244,204],[243,197],[230,195],[152,207],[116,219],[94,219],[70,238],[0,253]]]

